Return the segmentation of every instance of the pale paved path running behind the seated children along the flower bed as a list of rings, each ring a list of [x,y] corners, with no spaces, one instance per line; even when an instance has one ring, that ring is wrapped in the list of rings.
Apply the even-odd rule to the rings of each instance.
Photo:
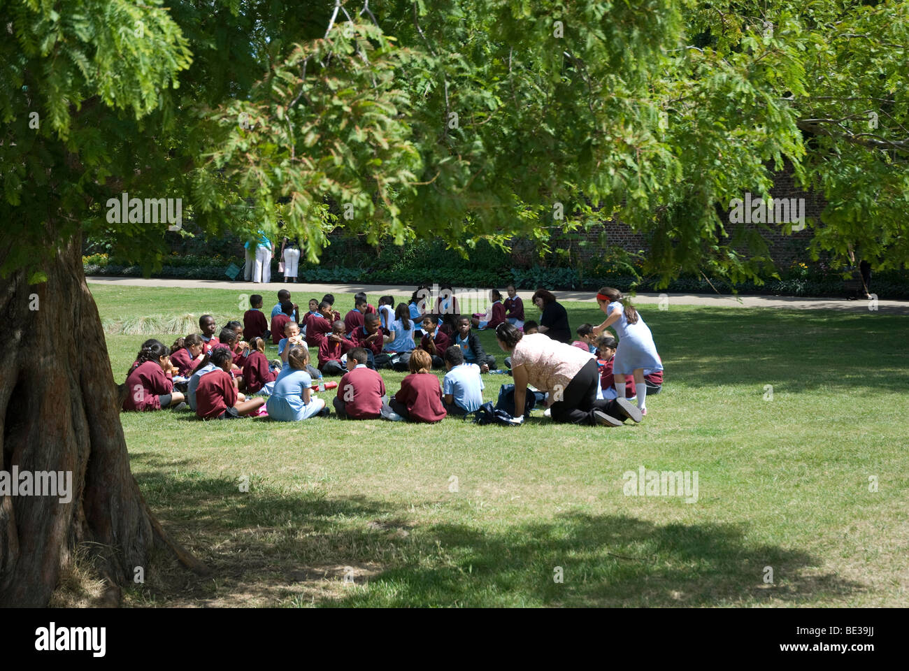
[[[229,282],[220,280],[181,280],[181,279],[144,279],[142,277],[86,277],[87,281],[98,285],[118,286],[175,286],[181,288],[229,289],[247,294],[272,294],[278,289],[286,288],[295,296],[297,303],[300,296],[314,295],[321,298],[325,294],[350,294],[363,291],[366,294],[387,294],[410,296],[415,285],[309,285],[303,282],[294,284],[272,282],[268,285],[253,282]],[[529,303],[533,291],[518,291],[524,302]],[[591,291],[554,291],[559,300],[589,301],[596,300]],[[659,303],[660,294],[638,294],[634,302],[642,305]],[[790,309],[812,310],[847,310],[852,312],[870,312],[871,305],[867,300],[848,301],[844,298],[799,298],[784,295],[741,295],[738,298],[730,295],[716,294],[666,294],[668,304],[672,305],[711,305],[715,307],[784,307]],[[265,301],[268,302],[267,299]],[[888,315],[909,315],[909,301],[878,300],[878,313]]]

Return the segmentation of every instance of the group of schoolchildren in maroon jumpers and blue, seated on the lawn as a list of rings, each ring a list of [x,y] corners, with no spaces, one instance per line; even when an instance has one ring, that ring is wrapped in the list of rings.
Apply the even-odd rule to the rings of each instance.
[[[339,417],[437,422],[449,414],[464,416],[483,405],[481,374],[495,366],[494,356],[486,354],[472,326],[482,329],[507,320],[523,327],[525,335],[537,332],[534,321],[524,321],[524,305],[513,285],[508,286],[508,296],[503,304],[501,295],[493,292],[492,318],[484,321],[477,315],[421,315],[417,292],[396,308],[392,296],[382,296],[378,309],[368,304],[365,294],[357,294],[354,308],[342,320],[333,309],[335,297],[327,294],[322,301],[309,301],[301,329],[299,308],[290,292],[278,292],[271,328],[262,313],[263,298],[255,294],[243,324],[228,322],[217,336],[215,318],[203,315],[201,333],[178,338],[170,350],[157,340],[145,341],[127,374],[123,407],[158,410],[185,402],[205,419],[267,414],[277,421],[299,421],[329,414],[325,401],[313,393],[314,379],[321,383],[322,376],[341,375],[333,403]],[[603,396],[615,398],[615,338],[597,338],[590,324],[580,325],[577,334],[573,344],[597,356]],[[280,360],[270,362],[265,354],[269,336],[278,346]],[[318,348],[317,366],[310,365],[310,346]],[[505,366],[509,363],[506,358]],[[440,385],[431,371],[442,367],[446,373]],[[410,375],[389,399],[377,368]],[[662,371],[644,374],[648,396],[658,393]],[[175,378],[178,385],[185,385],[179,387],[185,392],[175,390]],[[267,401],[252,396],[256,394],[267,396]],[[624,396],[635,396],[631,376],[626,378]]]

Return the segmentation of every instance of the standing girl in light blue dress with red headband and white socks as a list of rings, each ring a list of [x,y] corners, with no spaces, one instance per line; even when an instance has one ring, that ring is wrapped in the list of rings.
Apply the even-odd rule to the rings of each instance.
[[[644,369],[663,370],[663,362],[656,353],[654,335],[634,306],[618,289],[604,286],[596,293],[596,302],[606,318],[603,324],[594,326],[594,334],[600,335],[604,328],[612,326],[619,336],[619,346],[615,351],[613,364],[615,390],[624,398],[624,378],[634,376],[637,406],[641,414],[646,415],[647,385],[644,382]]]

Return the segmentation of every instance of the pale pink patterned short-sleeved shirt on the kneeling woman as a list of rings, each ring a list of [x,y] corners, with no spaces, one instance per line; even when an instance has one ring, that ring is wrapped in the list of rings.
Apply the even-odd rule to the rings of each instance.
[[[527,383],[541,391],[554,393],[558,386],[564,391],[574,376],[594,355],[553,340],[543,333],[524,335],[512,352],[512,370],[524,366]]]

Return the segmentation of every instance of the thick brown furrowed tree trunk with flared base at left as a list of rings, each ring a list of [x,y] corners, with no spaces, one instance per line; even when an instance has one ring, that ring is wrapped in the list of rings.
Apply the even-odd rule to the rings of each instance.
[[[0,247],[0,263],[8,251]],[[71,471],[72,500],[0,496],[0,606],[45,606],[81,543],[115,590],[136,566],[147,572],[155,541],[205,572],[167,538],[130,472],[121,392],[85,284],[81,241],[45,272],[45,283],[28,285],[16,271],[0,289],[0,470]]]

